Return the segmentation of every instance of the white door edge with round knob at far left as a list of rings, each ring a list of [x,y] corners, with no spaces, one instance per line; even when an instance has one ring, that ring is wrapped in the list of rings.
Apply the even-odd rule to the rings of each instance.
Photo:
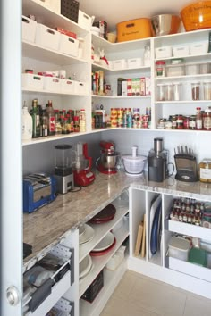
[[[21,0],[0,3],[0,315],[21,315]]]

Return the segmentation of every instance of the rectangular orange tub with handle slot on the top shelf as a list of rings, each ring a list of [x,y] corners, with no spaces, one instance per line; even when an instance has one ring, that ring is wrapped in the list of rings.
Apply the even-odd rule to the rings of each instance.
[[[116,25],[117,42],[126,42],[152,36],[151,22],[148,18],[120,22]]]

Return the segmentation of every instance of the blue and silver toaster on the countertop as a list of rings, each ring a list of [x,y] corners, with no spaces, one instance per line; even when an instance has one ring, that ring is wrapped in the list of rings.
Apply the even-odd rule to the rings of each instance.
[[[56,180],[46,173],[23,177],[23,212],[34,212],[55,200]]]

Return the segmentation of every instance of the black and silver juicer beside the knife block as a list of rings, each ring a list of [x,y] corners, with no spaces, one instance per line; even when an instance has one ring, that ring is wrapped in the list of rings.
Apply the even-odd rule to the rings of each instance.
[[[163,139],[154,138],[154,149],[148,153],[148,180],[162,182],[167,176],[168,152],[163,149]]]

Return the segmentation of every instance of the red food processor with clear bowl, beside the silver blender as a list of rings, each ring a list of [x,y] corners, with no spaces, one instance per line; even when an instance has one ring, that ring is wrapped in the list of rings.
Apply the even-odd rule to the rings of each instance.
[[[89,186],[94,182],[95,175],[91,171],[92,157],[88,155],[88,144],[77,143],[75,146],[74,183],[81,187]]]

